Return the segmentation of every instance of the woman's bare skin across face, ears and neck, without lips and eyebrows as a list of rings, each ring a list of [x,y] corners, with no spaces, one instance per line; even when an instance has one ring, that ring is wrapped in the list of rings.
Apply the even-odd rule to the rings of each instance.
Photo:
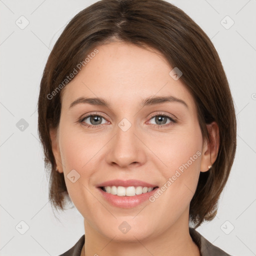
[[[191,94],[181,79],[169,75],[173,67],[156,49],[122,41],[97,49],[62,89],[59,126],[50,131],[58,171],[64,172],[69,196],[84,217],[81,255],[198,256],[188,231],[189,203],[200,171],[207,171],[216,159],[218,126],[207,125],[210,140],[202,138]],[[179,102],[139,105],[143,98],[166,95],[184,100],[188,108]],[[81,96],[102,97],[110,108],[84,103],[69,108]],[[78,122],[94,112],[102,116],[99,127]],[[167,118],[159,127],[157,114],[169,114],[177,122]],[[125,132],[118,126],[123,118],[131,123]],[[87,118],[83,123],[96,122]],[[128,209],[112,206],[95,186],[119,178],[161,187],[196,151],[201,155],[154,202]],[[74,183],[67,178],[72,169],[80,175]],[[125,234],[118,229],[123,221],[131,226]]]

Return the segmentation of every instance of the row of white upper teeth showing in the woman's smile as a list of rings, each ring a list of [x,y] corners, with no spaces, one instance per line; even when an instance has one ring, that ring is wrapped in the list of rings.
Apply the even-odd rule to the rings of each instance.
[[[136,194],[142,194],[146,192],[150,192],[153,190],[153,187],[147,186],[103,186],[103,190],[110,194],[116,194],[119,196],[133,196]]]

